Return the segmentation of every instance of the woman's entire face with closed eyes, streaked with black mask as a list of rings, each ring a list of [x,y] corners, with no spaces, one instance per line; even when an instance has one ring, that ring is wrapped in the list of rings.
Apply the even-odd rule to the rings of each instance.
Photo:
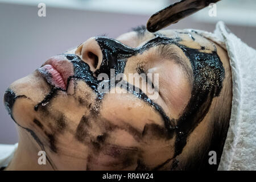
[[[5,104],[55,169],[171,169],[202,142],[207,127],[186,141],[224,77],[216,46],[196,32],[142,28],[51,57],[10,85]]]

